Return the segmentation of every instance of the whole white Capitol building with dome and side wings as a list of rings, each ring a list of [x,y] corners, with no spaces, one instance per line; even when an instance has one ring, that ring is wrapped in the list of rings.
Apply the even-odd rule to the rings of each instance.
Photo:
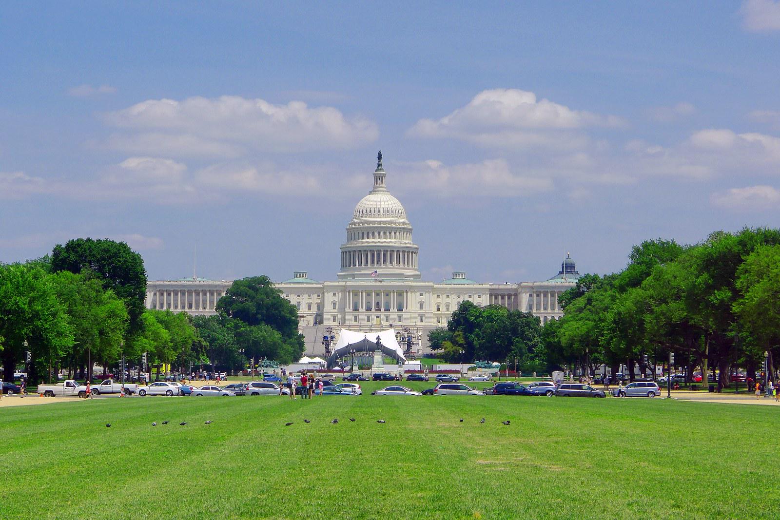
[[[374,170],[374,186],[355,206],[340,246],[341,268],[335,281],[316,281],[307,271],[276,283],[298,310],[300,332],[307,354],[327,354],[324,336],[340,329],[364,332],[373,338],[392,328],[412,353],[427,350],[427,332],[445,327],[450,315],[466,300],[477,306],[500,305],[540,317],[558,319],[558,295],[571,288],[580,274],[567,255],[558,274],[544,281],[493,284],[473,281],[463,271],[448,280],[424,281],[420,276],[420,248],[413,242],[406,210],[388,191],[381,152]],[[190,314],[212,314],[231,280],[203,278],[149,281],[148,309],[170,309]],[[338,341],[338,338],[334,338]]]

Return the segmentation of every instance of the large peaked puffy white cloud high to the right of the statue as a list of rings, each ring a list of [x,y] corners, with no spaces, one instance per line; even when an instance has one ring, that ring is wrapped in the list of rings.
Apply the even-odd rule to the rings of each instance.
[[[420,119],[407,135],[465,140],[484,147],[578,148],[589,143],[579,129],[621,125],[615,116],[538,100],[526,90],[494,89],[483,90],[441,119]]]

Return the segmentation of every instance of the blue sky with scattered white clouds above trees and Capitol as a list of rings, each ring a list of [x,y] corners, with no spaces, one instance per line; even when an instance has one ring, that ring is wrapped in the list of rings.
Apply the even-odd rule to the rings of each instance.
[[[334,280],[380,149],[429,281],[778,226],[776,0],[312,3],[0,4],[0,262]]]

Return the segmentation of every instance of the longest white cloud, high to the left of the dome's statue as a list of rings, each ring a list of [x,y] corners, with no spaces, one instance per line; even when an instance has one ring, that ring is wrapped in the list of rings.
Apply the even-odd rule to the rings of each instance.
[[[148,100],[106,115],[120,129],[108,146],[133,154],[239,157],[250,151],[350,149],[378,139],[360,116],[302,101],[271,104],[237,96]]]

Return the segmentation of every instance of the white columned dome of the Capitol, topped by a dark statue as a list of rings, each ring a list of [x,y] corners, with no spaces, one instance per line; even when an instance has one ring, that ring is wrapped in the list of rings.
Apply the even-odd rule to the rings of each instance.
[[[417,245],[406,210],[385,186],[379,152],[374,187],[355,206],[341,246],[339,279],[419,279]]]

